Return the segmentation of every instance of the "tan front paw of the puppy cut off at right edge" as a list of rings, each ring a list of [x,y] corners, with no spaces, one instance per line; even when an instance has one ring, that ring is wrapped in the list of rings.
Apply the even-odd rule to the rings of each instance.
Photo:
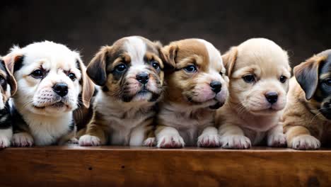
[[[286,131],[287,146],[292,149],[318,149],[320,140],[310,135],[308,128],[293,126]]]

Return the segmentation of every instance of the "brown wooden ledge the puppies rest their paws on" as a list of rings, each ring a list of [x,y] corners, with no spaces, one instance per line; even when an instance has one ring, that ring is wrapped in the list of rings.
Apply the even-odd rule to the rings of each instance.
[[[0,186],[330,186],[331,151],[32,147],[0,151]]]

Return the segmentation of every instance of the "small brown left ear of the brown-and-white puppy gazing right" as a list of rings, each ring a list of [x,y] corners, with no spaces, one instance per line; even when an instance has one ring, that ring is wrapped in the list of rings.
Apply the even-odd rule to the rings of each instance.
[[[163,62],[165,62],[165,67],[169,69],[175,69],[176,62],[175,58],[177,57],[178,45],[175,43],[170,43],[161,49],[161,57]]]

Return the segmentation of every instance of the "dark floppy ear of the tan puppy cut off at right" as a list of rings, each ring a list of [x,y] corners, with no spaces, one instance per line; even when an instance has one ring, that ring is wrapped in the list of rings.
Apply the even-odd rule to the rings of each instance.
[[[307,100],[315,94],[318,87],[318,69],[325,59],[326,57],[313,56],[294,67],[294,77],[305,91]]]

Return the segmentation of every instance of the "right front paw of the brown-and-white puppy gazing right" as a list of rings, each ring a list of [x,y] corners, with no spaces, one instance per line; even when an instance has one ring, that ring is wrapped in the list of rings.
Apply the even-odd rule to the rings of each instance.
[[[220,137],[217,129],[214,127],[204,128],[202,134],[198,137],[198,147],[220,147]]]

